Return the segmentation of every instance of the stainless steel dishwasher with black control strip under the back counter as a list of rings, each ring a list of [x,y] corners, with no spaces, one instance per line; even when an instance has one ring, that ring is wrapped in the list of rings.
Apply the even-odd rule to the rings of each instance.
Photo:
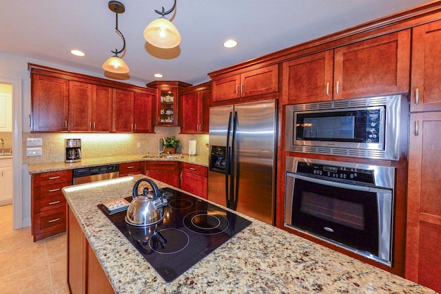
[[[103,165],[100,167],[85,167],[74,169],[72,184],[84,184],[86,182],[96,182],[98,180],[108,180],[119,177],[119,165]]]

